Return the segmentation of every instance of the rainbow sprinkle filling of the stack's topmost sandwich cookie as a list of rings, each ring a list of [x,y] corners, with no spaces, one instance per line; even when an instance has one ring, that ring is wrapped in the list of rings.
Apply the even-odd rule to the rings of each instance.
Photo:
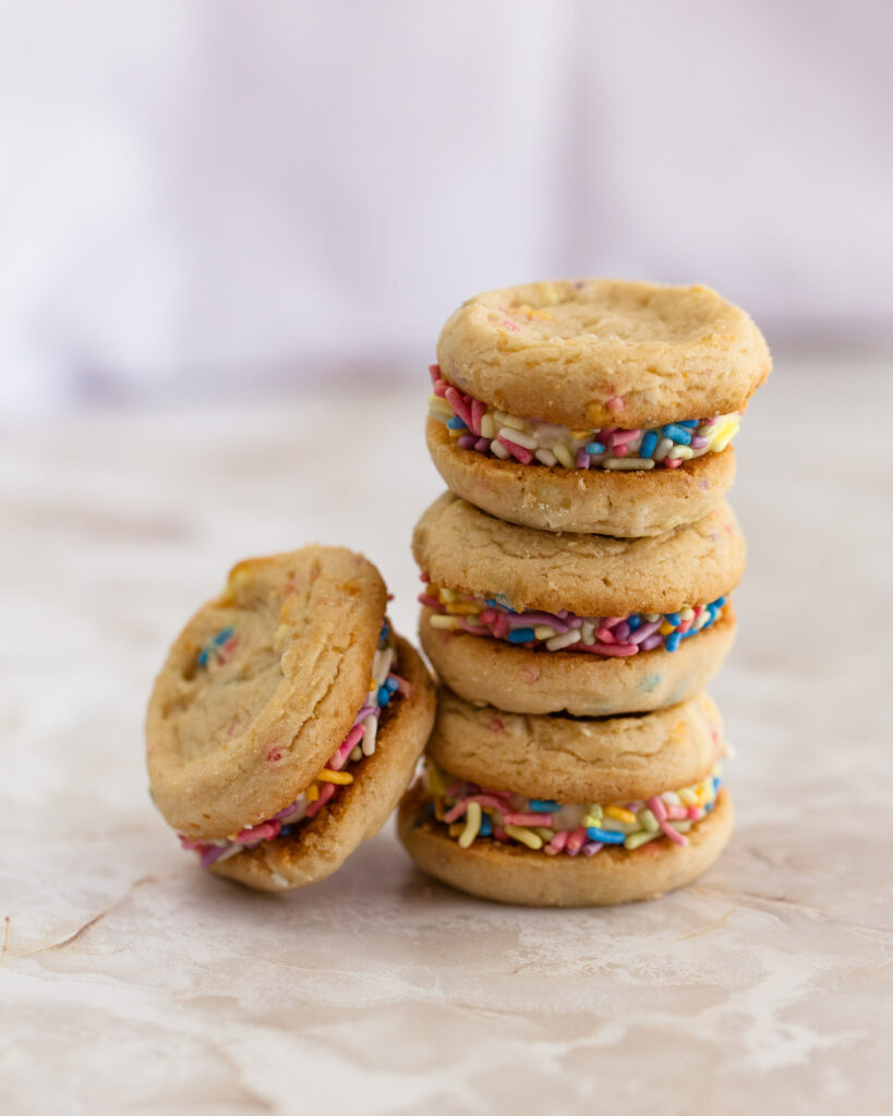
[[[659,465],[678,469],[693,458],[721,453],[740,427],[741,412],[733,412],[710,419],[679,420],[650,430],[621,426],[572,430],[540,419],[490,410],[443,379],[440,365],[432,364],[429,372],[433,384],[429,414],[443,423],[459,449],[501,461],[513,459],[524,465],[626,471]],[[620,414],[623,401],[615,396],[607,401],[607,406]]]

